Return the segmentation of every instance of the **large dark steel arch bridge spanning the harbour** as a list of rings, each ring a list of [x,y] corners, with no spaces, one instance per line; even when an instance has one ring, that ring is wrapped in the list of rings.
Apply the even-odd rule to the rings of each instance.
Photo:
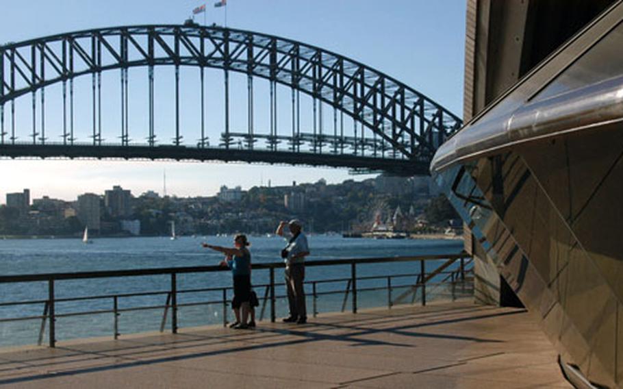
[[[160,142],[155,131],[155,66],[175,68],[175,136]],[[181,66],[199,68],[201,117],[185,145],[180,125]],[[147,68],[147,128],[130,128],[129,69]],[[223,129],[209,145],[205,118],[206,68],[223,70]],[[102,128],[102,73],[120,71],[120,121]],[[246,75],[247,125],[230,127],[230,73]],[[75,136],[74,80],[91,75],[88,142]],[[243,76],[244,77],[244,76]],[[254,79],[270,84],[270,124],[254,121]],[[46,88],[62,85],[62,128],[50,142]],[[290,90],[288,124],[277,125],[277,90]],[[312,99],[312,129],[301,129],[301,92]],[[31,123],[16,125],[16,101],[31,96]],[[131,101],[133,103],[133,101]],[[322,108],[329,109],[323,118]],[[331,112],[332,110],[332,112]],[[104,113],[105,114],[105,113]],[[352,125],[344,126],[344,118]],[[283,122],[283,121],[281,121]],[[324,123],[324,124],[323,124]],[[0,155],[65,158],[223,160],[344,166],[355,171],[428,174],[435,149],[461,127],[461,120],[422,93],[342,55],[301,42],[199,25],[141,25],[90,29],[0,46]],[[287,127],[287,128],[286,128]],[[60,132],[60,130],[58,130]],[[118,137],[107,142],[104,136]],[[132,137],[144,138],[134,142]],[[25,141],[25,140],[27,141]]]

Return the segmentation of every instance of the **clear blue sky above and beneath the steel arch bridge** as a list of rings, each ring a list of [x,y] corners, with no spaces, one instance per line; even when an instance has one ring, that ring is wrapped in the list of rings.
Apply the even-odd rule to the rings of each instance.
[[[202,3],[189,0],[3,1],[0,42],[18,42],[92,27],[182,23],[192,8]],[[213,3],[207,3],[207,23],[223,24],[223,9],[214,8]],[[465,6],[465,0],[228,0],[227,24],[300,40],[359,60],[416,88],[460,116]],[[199,16],[198,21],[203,22],[203,16]],[[171,83],[157,82],[160,82],[157,88],[163,93],[170,90]],[[233,88],[235,93],[236,86]],[[132,92],[133,98],[143,97],[136,88]],[[49,96],[54,93],[53,89],[47,91],[47,99],[53,99]],[[104,93],[107,96],[107,91]],[[214,106],[209,108],[209,115],[210,110],[217,112],[218,104],[222,103],[220,92],[213,95],[210,97],[214,98]],[[257,104],[257,120],[262,121],[265,110],[262,110],[262,102]],[[246,110],[245,107],[239,109]],[[166,112],[162,110],[161,114],[165,122],[170,121]],[[86,116],[88,114],[86,112]],[[54,115],[51,112],[47,117]],[[137,120],[131,119],[131,125]],[[26,120],[21,123],[30,125]],[[139,124],[136,123],[136,127],[140,127]],[[236,124],[234,118],[233,125]],[[67,200],[75,199],[82,192],[100,193],[115,184],[132,190],[133,194],[147,189],[162,192],[165,168],[168,194],[178,196],[212,195],[221,184],[249,188],[258,185],[260,180],[267,184],[269,179],[273,185],[280,185],[292,180],[317,181],[321,177],[339,182],[350,177],[345,169],[296,166],[0,160],[0,202],[4,202],[5,192],[22,188],[31,188],[31,196],[35,198],[47,194]]]

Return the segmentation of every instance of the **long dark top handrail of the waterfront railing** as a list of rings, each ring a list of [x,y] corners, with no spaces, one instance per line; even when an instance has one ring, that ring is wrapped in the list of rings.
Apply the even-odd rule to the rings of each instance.
[[[307,260],[305,266],[330,266],[330,265],[348,265],[348,264],[372,264],[382,262],[417,262],[428,260],[450,260],[470,258],[470,255],[466,252],[457,254],[435,254],[435,255],[411,255],[411,256],[396,256],[396,257],[383,257],[383,258],[344,258],[335,260]],[[270,269],[270,268],[283,268],[284,262],[270,262],[264,264],[252,264],[253,269]],[[41,274],[29,274],[29,275],[1,275],[0,284],[15,283],[15,282],[31,282],[31,281],[50,281],[60,279],[86,279],[86,278],[109,278],[109,277],[131,277],[131,276],[144,276],[144,275],[171,275],[181,273],[203,273],[213,271],[229,271],[229,268],[225,268],[219,265],[213,266],[181,266],[170,268],[144,268],[144,269],[129,269],[120,271],[88,271],[77,273],[41,273]]]

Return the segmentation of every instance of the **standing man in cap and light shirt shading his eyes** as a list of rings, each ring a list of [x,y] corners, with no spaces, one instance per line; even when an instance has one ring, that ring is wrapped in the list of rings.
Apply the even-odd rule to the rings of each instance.
[[[305,257],[309,255],[307,238],[301,231],[301,221],[293,219],[290,223],[282,221],[277,227],[275,234],[283,236],[283,229],[288,225],[292,236],[288,244],[281,250],[281,258],[285,260],[285,286],[288,289],[288,303],[290,304],[290,316],[284,318],[285,323],[307,323],[307,309],[305,308]]]

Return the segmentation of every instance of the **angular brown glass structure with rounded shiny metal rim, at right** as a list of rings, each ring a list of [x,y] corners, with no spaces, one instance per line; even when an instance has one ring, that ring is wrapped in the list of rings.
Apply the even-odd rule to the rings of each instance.
[[[474,253],[539,322],[565,376],[585,387],[623,388],[621,45],[615,1],[431,164]]]

